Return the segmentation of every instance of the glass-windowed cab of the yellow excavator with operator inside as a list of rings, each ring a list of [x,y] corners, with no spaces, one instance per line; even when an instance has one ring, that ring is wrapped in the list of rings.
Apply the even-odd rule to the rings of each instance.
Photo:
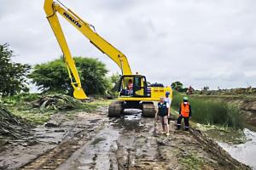
[[[120,97],[150,97],[146,77],[141,75],[125,75],[119,80]]]

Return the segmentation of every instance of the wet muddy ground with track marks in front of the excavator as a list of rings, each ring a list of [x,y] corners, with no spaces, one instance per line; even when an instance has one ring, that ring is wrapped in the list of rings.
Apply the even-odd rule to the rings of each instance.
[[[134,111],[133,111],[134,112]],[[134,116],[59,113],[33,138],[1,146],[0,169],[250,169],[198,130],[160,134],[160,122]]]

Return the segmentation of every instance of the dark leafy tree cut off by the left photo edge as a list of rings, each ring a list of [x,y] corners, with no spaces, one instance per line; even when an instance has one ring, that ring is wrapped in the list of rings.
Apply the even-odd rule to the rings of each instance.
[[[26,76],[31,65],[12,62],[13,56],[14,52],[9,49],[9,44],[0,45],[0,94],[3,96],[29,91]]]

